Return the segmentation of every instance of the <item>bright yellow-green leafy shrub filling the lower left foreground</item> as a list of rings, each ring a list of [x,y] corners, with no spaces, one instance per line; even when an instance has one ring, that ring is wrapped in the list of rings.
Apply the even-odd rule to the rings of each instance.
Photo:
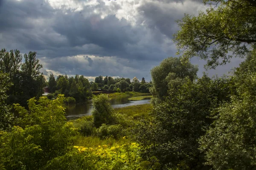
[[[77,129],[66,122],[64,97],[55,100],[41,97],[28,101],[29,110],[15,105],[20,114],[18,125],[0,136],[0,164],[8,170],[40,169],[48,161],[62,156],[70,149]],[[38,104],[36,104],[38,103]]]

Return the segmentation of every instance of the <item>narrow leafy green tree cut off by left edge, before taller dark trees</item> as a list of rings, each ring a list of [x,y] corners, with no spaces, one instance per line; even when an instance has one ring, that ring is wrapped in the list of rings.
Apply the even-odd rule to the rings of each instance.
[[[8,74],[0,73],[0,130],[10,130],[13,124],[12,107],[6,104],[6,92],[11,86],[12,82]]]

